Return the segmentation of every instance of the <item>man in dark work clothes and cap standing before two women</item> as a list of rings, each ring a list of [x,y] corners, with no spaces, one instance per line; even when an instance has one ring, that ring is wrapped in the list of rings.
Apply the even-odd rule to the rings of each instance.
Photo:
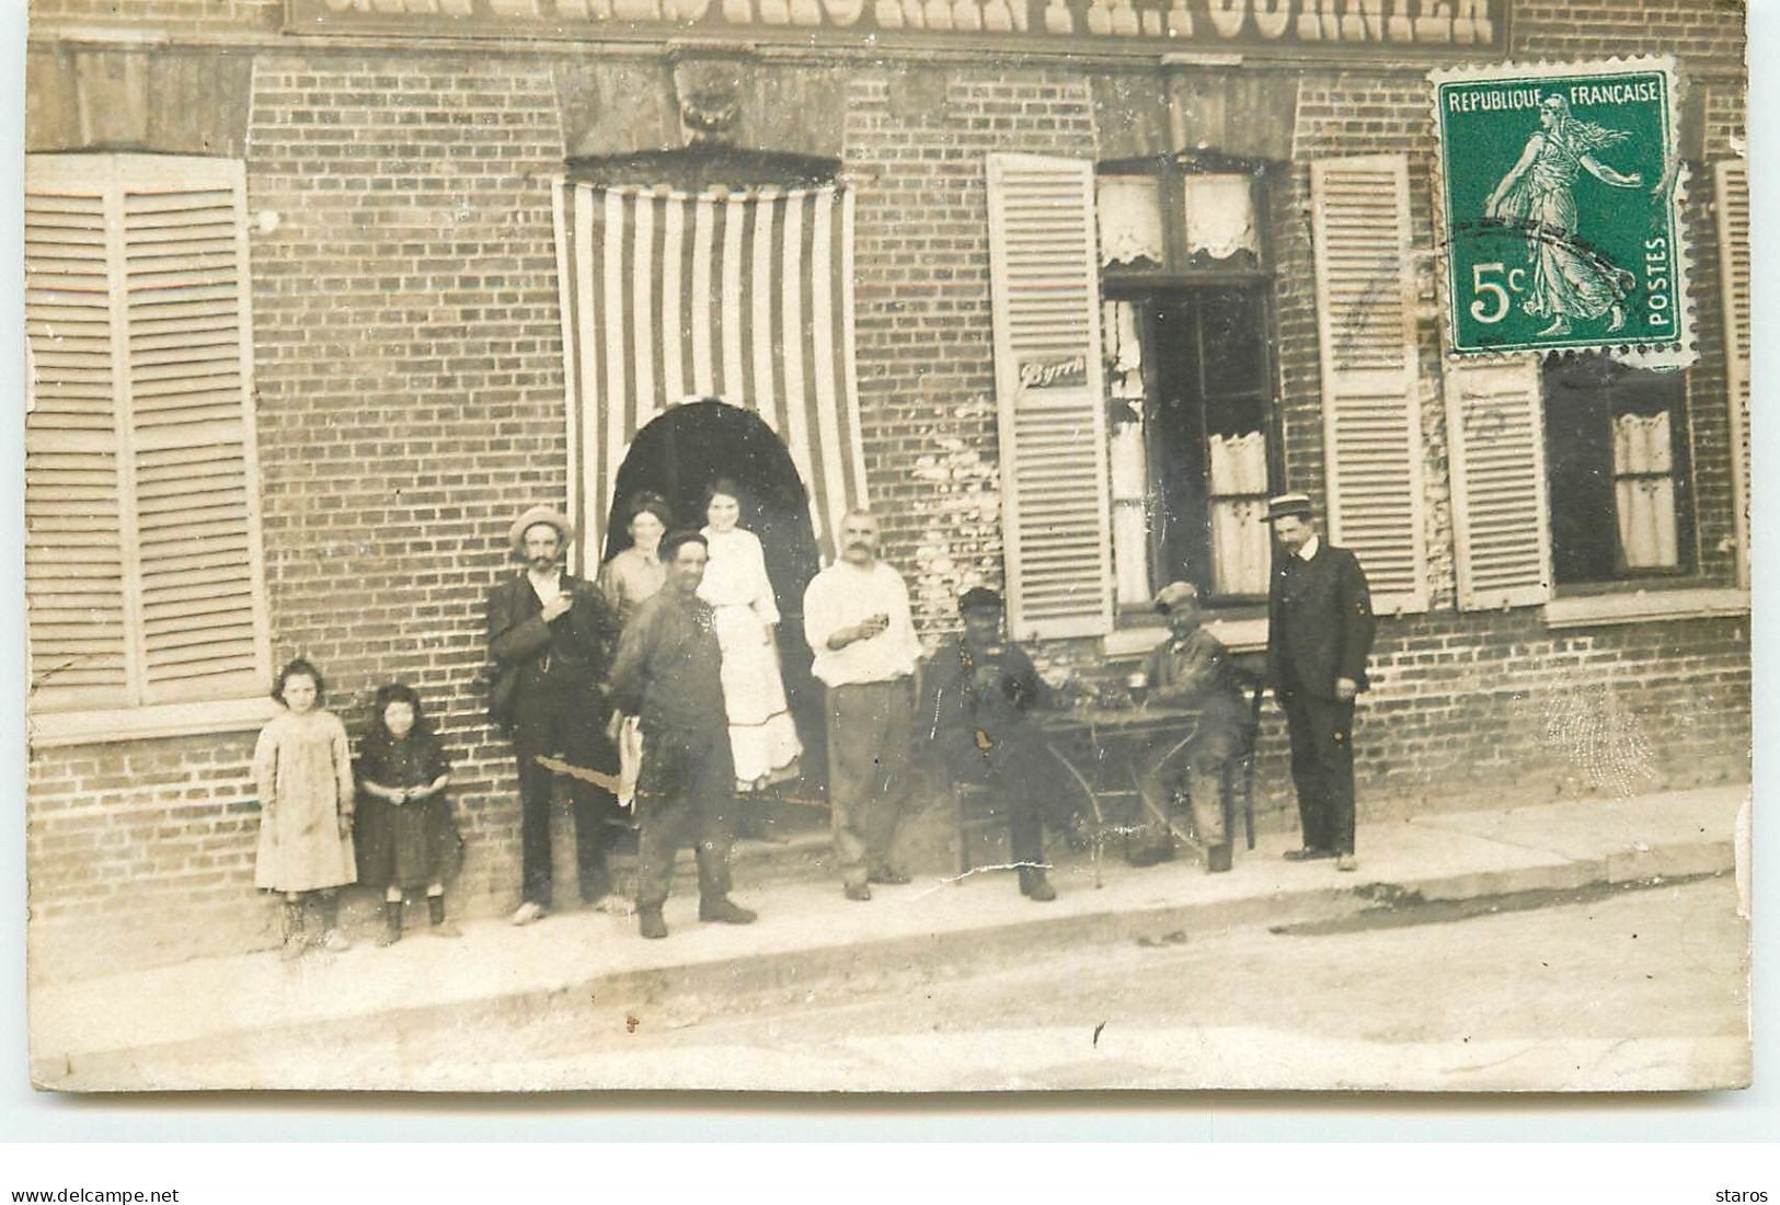
[[[748,924],[755,913],[730,901],[730,810],[735,758],[723,707],[723,650],[716,616],[698,596],[710,552],[698,532],[662,539],[668,584],[625,627],[612,666],[612,701],[639,716],[637,927],[668,936],[662,904],[680,845],[698,851],[698,918]]]

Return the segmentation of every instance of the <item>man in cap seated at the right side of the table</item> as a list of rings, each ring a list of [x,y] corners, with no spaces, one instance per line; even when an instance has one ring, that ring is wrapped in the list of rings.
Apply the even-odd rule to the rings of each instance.
[[[1248,716],[1230,675],[1230,655],[1216,635],[1200,627],[1200,591],[1191,582],[1169,582],[1155,596],[1155,609],[1168,616],[1169,637],[1150,651],[1145,664],[1150,698],[1168,707],[1194,708],[1198,717],[1137,755],[1145,819],[1143,842],[1130,854],[1130,863],[1148,867],[1175,856],[1168,810],[1184,790],[1193,805],[1193,835],[1205,845],[1205,869],[1219,874],[1230,869],[1223,771],[1242,744]]]

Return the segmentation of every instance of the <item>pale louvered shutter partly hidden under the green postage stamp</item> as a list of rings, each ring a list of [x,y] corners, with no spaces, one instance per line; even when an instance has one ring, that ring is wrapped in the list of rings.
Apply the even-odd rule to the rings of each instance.
[[[1540,368],[1447,363],[1452,532],[1461,611],[1531,607],[1550,598]]]

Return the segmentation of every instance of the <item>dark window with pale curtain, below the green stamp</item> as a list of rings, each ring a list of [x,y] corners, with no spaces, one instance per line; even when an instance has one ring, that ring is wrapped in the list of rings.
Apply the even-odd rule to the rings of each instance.
[[[1552,578],[1648,584],[1695,564],[1687,386],[1607,356],[1543,370]]]

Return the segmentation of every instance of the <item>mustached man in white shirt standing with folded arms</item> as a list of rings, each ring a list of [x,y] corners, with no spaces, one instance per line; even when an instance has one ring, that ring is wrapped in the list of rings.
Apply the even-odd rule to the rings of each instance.
[[[803,594],[812,671],[828,687],[828,801],[835,858],[847,899],[870,883],[908,883],[890,845],[908,799],[920,641],[902,575],[878,559],[881,532],[869,511],[847,511],[840,559]]]

